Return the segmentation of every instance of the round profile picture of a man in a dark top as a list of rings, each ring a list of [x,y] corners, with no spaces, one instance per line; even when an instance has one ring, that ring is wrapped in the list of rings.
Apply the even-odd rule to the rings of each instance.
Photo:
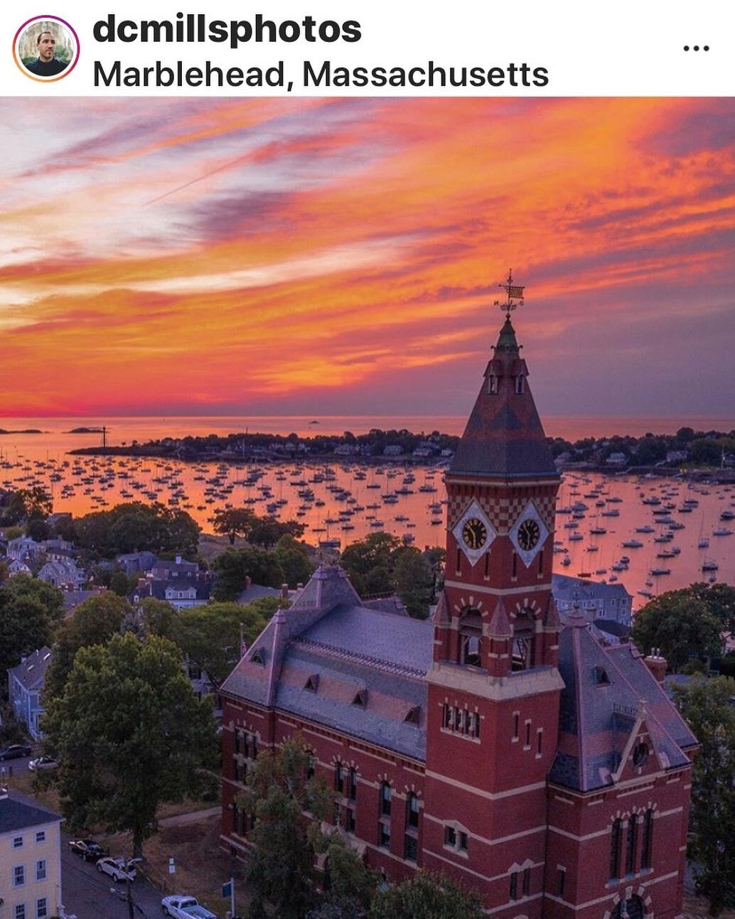
[[[74,28],[64,19],[36,17],[18,28],[13,55],[26,76],[51,83],[74,70],[79,40]]]

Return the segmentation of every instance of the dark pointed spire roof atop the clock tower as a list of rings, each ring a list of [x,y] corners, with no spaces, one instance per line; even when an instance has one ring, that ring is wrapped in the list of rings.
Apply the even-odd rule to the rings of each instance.
[[[503,478],[556,476],[510,319],[494,352],[449,471]],[[515,391],[518,376],[524,378],[520,393]],[[497,382],[496,392],[489,391],[491,377]]]

